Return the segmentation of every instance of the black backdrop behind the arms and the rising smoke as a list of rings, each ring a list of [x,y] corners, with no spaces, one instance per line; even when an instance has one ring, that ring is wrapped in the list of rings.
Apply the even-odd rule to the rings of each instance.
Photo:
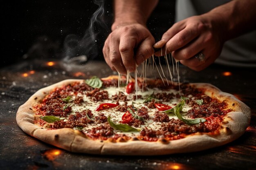
[[[173,24],[174,4],[174,0],[161,0],[148,20],[156,41]],[[90,18],[98,9],[94,1],[88,0],[5,1],[1,6],[1,67],[33,58],[62,59],[67,35],[83,38]],[[98,55],[94,60],[103,60],[101,50],[110,33],[112,18],[112,1],[105,0],[103,20],[107,26],[94,25],[94,32],[98,33],[97,46],[93,47]]]

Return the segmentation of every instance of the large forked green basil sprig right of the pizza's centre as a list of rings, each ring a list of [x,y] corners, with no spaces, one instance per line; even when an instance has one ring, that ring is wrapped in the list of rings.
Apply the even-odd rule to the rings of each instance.
[[[164,111],[164,113],[174,113],[181,121],[188,125],[199,124],[200,122],[205,122],[206,120],[203,118],[196,118],[196,119],[184,119],[180,112],[185,105],[186,98],[181,97],[182,101],[178,103],[174,108]]]

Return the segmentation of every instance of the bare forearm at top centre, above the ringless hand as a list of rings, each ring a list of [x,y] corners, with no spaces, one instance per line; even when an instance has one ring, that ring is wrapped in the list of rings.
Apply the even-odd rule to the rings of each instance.
[[[146,21],[157,5],[158,0],[115,0],[112,31],[119,25],[139,23],[146,25]]]

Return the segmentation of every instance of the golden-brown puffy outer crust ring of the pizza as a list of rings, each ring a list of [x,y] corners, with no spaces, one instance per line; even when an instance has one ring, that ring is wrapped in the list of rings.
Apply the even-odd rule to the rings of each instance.
[[[118,79],[118,76],[110,76],[103,79]],[[191,84],[197,88],[205,88],[207,95],[218,98],[220,101],[226,100],[228,107],[232,112],[227,113],[222,122],[220,134],[209,135],[196,133],[189,135],[183,139],[167,141],[166,143],[149,142],[140,140],[128,141],[101,141],[92,140],[86,137],[79,130],[71,128],[63,128],[57,130],[47,130],[34,124],[34,112],[31,109],[38,104],[47,93],[56,87],[61,87],[73,82],[82,82],[82,79],[67,79],[51,86],[45,87],[32,95],[25,104],[20,106],[17,111],[16,121],[20,128],[27,134],[36,137],[48,144],[52,144],[59,148],[69,150],[71,152],[82,152],[89,154],[102,155],[166,155],[172,153],[195,152],[221,146],[229,143],[243,135],[249,125],[251,111],[250,108],[234,95],[224,93],[220,89],[211,84],[194,83]],[[147,79],[147,83],[156,82]]]

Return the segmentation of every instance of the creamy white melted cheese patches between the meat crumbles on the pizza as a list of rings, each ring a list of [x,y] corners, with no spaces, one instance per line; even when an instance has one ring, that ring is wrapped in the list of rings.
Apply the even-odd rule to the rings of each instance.
[[[144,103],[143,103],[144,100],[149,95],[151,95],[153,92],[155,94],[162,93],[162,92],[174,93],[174,94],[178,93],[177,91],[175,91],[173,89],[171,89],[169,91],[162,91],[162,90],[160,90],[158,88],[153,88],[153,89],[149,89],[148,91],[144,91],[144,92],[139,90],[139,91],[137,91],[137,95],[141,95],[142,97],[140,99],[136,99],[134,101],[133,100],[133,96],[135,95],[135,92],[131,93],[131,94],[127,94],[125,92],[125,87],[120,87],[120,88],[108,87],[108,88],[105,88],[104,90],[108,91],[109,99],[105,99],[103,101],[98,101],[98,102],[93,102],[88,96],[82,95],[81,93],[79,93],[78,96],[82,96],[84,102],[81,103],[81,105],[72,105],[72,113],[71,114],[75,114],[75,112],[77,112],[77,111],[81,112],[81,111],[83,111],[85,109],[90,109],[90,110],[92,110],[92,114],[94,115],[94,117],[98,116],[101,113],[103,113],[107,117],[108,117],[108,115],[110,115],[111,120],[115,124],[121,124],[121,119],[122,119],[122,116],[124,115],[125,112],[120,112],[120,111],[117,110],[117,108],[108,108],[106,110],[94,111],[95,108],[97,108],[97,106],[99,106],[99,104],[102,104],[102,103],[115,103],[116,101],[112,99],[112,95],[119,94],[119,92],[124,93],[125,95],[127,95],[127,99],[128,99],[128,101],[127,101],[128,104],[127,105],[131,105],[133,103],[133,105],[137,109],[139,109],[139,108],[144,106]],[[73,97],[73,99],[74,99],[74,97]],[[163,104],[168,104],[169,106],[175,107],[178,102],[179,102],[179,100],[174,98],[174,99],[171,99],[169,102],[163,102]],[[120,105],[122,105],[124,103],[125,102],[119,100],[119,104]],[[144,107],[146,107],[146,106],[144,106]],[[189,109],[191,109],[191,108],[189,106],[185,105],[182,111],[186,112]],[[157,129],[159,129],[161,127],[162,123],[153,121],[153,117],[154,117],[155,111],[157,111],[156,108],[152,108],[152,109],[148,108],[148,115],[150,117],[150,120],[146,120],[145,125],[140,125],[140,127],[138,127],[138,129],[143,129],[144,127],[147,127],[147,128],[151,128],[151,129],[157,130]],[[170,117],[170,119],[171,118],[177,119],[177,117],[175,115],[169,115],[169,117]],[[186,115],[184,115],[184,118],[186,118]],[[88,124],[88,126],[83,128],[83,130],[86,131],[87,129],[91,129],[93,127],[95,127],[94,124]],[[119,130],[117,130],[117,133],[126,134],[126,135],[132,137],[133,135],[138,134],[139,132],[120,132]]]

